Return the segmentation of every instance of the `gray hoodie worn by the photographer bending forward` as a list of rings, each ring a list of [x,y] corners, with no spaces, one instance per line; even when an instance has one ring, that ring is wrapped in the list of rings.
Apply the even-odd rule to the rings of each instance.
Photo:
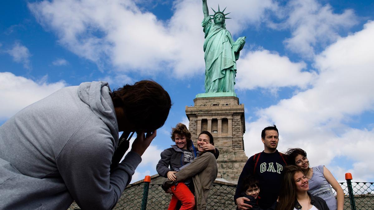
[[[112,209],[141,157],[110,173],[118,125],[108,83],[65,87],[0,127],[0,209]]]

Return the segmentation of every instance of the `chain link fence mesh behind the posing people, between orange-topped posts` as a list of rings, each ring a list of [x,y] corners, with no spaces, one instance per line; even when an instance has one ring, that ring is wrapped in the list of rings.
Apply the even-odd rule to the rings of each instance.
[[[129,185],[123,192],[118,201],[116,210],[135,210],[135,209],[168,209],[171,199],[170,194],[166,194],[161,188],[160,184],[150,184],[147,196],[146,207],[142,208],[142,199],[144,193],[144,186],[146,183],[142,182],[135,185]],[[374,183],[373,182],[352,182],[352,189],[355,200],[355,209],[352,208],[349,198],[349,188],[347,182],[340,183],[343,188],[344,209],[346,210],[374,210]],[[234,194],[236,185],[224,185],[214,183],[209,192],[207,200],[207,209],[227,210],[236,209],[234,203]],[[335,193],[336,195],[336,193]],[[79,209],[76,203],[73,203],[70,210]]]

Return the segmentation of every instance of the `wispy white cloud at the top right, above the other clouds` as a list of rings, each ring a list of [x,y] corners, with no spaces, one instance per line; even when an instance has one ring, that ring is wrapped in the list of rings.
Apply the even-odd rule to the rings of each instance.
[[[313,58],[316,47],[327,46],[339,38],[338,31],[357,23],[353,10],[337,14],[329,4],[322,6],[316,0],[289,1],[285,11],[287,20],[283,27],[291,28],[292,37],[284,41],[286,48]]]

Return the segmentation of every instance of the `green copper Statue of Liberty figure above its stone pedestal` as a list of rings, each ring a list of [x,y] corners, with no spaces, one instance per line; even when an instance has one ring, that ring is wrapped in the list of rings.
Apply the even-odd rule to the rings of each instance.
[[[226,30],[225,19],[229,19],[226,18],[229,13],[223,13],[226,8],[221,12],[218,5],[218,12],[213,10],[214,15],[209,15],[206,0],[202,1],[204,13],[202,27],[205,33],[205,93],[234,93],[236,61],[245,44],[245,37],[239,37],[234,41],[230,32]]]

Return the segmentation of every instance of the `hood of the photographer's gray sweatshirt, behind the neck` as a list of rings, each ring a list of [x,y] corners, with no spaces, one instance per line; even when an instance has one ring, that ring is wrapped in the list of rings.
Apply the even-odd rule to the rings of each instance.
[[[105,81],[81,83],[78,88],[79,98],[85,102],[101,120],[108,126],[114,140],[118,142],[118,123],[111,90]]]

